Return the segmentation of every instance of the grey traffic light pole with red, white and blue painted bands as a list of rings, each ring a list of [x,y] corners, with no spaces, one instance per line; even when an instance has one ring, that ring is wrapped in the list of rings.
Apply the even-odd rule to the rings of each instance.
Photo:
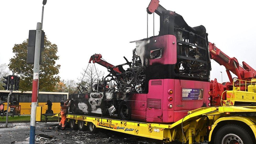
[[[38,86],[39,86],[39,59],[40,59],[40,44],[41,44],[41,23],[36,25],[36,41],[35,41],[35,57],[34,57],[34,72],[33,72],[33,83],[32,83],[32,99],[31,99],[31,117],[30,117],[30,138],[29,144],[35,143],[35,124],[36,124],[36,105],[38,97]]]

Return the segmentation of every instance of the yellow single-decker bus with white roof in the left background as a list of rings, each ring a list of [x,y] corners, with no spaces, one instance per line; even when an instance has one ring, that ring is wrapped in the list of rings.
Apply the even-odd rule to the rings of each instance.
[[[0,104],[4,104],[4,113],[7,110],[7,98],[9,90],[0,90]],[[30,115],[31,114],[31,97],[32,92],[21,92],[21,91],[13,91],[10,97],[10,104],[20,105],[21,115]],[[38,95],[38,106],[42,106],[42,114],[45,114],[47,110],[47,100],[51,100],[52,102],[52,110],[54,114],[60,113],[60,101],[67,100],[68,93],[60,93],[60,92],[39,92]]]

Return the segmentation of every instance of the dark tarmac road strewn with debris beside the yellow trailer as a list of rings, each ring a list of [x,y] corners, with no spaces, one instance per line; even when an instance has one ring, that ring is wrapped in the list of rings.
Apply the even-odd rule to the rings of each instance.
[[[5,125],[4,123],[0,123]],[[29,137],[30,123],[29,122],[15,122],[8,124],[9,128],[0,129],[0,143],[1,144],[26,144],[29,141],[25,141]],[[49,127],[56,126],[56,122],[37,122],[36,123],[36,134],[46,134],[54,136],[53,140],[45,140],[36,138],[35,143],[58,143],[58,144],[99,144],[99,143],[110,143],[110,144],[157,144],[163,143],[162,141],[154,140],[151,138],[138,137],[129,134],[123,134],[120,132],[114,132],[102,129],[97,134],[91,134],[88,131],[71,130],[67,128],[65,131],[62,130],[49,130]],[[16,141],[16,142],[15,142]],[[180,144],[179,142],[172,142],[169,144]],[[207,144],[207,143],[203,143]]]

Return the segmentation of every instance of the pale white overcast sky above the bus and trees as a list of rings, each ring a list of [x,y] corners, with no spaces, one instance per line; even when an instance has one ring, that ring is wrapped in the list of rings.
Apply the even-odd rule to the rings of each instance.
[[[102,54],[113,65],[131,61],[135,43],[147,37],[146,8],[150,0],[65,1],[48,0],[43,29],[58,46],[61,79],[77,79],[91,55]],[[189,26],[204,25],[208,40],[225,54],[256,69],[255,1],[171,1],[160,4],[183,16]],[[14,44],[28,38],[29,30],[41,22],[42,0],[8,0],[0,4],[0,64],[9,63]],[[155,14],[155,35],[159,16]],[[153,15],[149,15],[149,36],[153,36]],[[228,81],[225,67],[211,60],[211,79]],[[105,70],[96,64],[100,70]],[[107,73],[107,71],[105,71]]]

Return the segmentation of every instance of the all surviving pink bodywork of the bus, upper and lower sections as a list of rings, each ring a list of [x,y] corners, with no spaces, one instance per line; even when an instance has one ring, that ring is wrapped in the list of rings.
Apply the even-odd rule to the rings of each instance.
[[[149,65],[173,65],[177,63],[177,40],[174,35],[151,37],[146,49],[161,49],[160,58],[148,58]],[[182,99],[182,90],[202,91],[202,97]],[[173,93],[170,94],[169,91]],[[209,104],[210,83],[180,79],[152,79],[148,82],[148,93],[133,93],[127,102],[131,108],[131,119],[146,122],[176,122],[187,115],[188,111]],[[199,95],[199,94],[198,94]],[[170,97],[172,100],[170,101]],[[171,106],[170,106],[171,105]]]

